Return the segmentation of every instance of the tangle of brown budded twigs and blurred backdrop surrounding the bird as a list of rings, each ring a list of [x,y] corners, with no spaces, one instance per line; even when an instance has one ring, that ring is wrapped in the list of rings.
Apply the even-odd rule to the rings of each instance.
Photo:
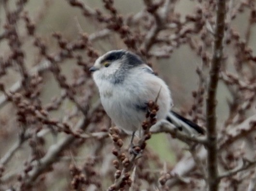
[[[255,191],[255,3],[1,0],[0,191]],[[206,135],[147,129],[142,155],[129,153],[88,71],[121,48]]]

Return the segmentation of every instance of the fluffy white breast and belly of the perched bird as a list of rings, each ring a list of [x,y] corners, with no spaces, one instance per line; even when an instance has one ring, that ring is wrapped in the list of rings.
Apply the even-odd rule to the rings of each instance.
[[[109,80],[99,78],[95,72],[94,81],[108,116],[127,133],[138,130],[146,119],[146,112],[136,106],[155,100],[159,91],[157,103],[160,110],[157,119],[165,118],[171,108],[172,100],[167,85],[162,79],[150,73],[133,72],[122,83],[112,84]]]

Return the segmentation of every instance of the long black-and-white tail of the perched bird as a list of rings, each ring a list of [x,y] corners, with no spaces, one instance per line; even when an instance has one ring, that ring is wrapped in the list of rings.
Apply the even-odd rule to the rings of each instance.
[[[202,127],[190,121],[189,119],[180,116],[174,111],[169,112],[169,114],[166,117],[166,120],[175,125],[175,127],[177,127],[180,131],[184,131],[188,134],[194,134],[195,132],[204,134],[205,132],[204,129],[202,129]]]

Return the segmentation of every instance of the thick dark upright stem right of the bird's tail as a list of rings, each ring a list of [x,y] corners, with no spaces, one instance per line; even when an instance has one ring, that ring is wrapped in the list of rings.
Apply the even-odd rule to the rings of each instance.
[[[216,91],[218,85],[218,75],[223,56],[223,36],[225,28],[225,12],[226,1],[217,1],[216,29],[214,52],[212,65],[210,69],[210,82],[208,87],[208,95],[206,99],[206,127],[208,139],[208,186],[209,191],[218,190],[218,167],[217,167],[217,132],[216,132]]]

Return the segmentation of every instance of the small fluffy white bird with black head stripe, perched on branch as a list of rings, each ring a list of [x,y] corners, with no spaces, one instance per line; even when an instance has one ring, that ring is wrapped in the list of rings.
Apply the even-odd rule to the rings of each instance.
[[[101,103],[117,127],[127,134],[141,129],[148,101],[157,99],[157,124],[172,123],[188,134],[203,134],[202,127],[171,110],[173,100],[165,82],[138,55],[112,50],[99,57],[90,68]]]

